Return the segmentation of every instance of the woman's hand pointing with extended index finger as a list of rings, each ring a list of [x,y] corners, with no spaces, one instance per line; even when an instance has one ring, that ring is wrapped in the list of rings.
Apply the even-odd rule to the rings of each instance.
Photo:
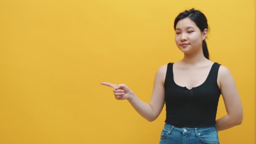
[[[124,100],[124,99],[131,98],[132,91],[125,84],[115,85],[112,83],[101,82],[101,85],[106,85],[106,86],[114,88],[113,92],[115,95],[115,99],[117,99],[117,100]]]

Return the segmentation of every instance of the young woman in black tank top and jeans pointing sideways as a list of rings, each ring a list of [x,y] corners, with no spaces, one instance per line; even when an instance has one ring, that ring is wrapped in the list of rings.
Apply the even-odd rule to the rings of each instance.
[[[166,105],[160,144],[219,144],[218,131],[240,125],[243,108],[234,79],[227,69],[209,60],[205,39],[205,15],[190,9],[174,21],[175,42],[183,59],[157,70],[149,104],[124,84],[102,82],[114,88],[117,100],[127,99],[136,111],[152,122]],[[222,94],[227,115],[216,120]]]

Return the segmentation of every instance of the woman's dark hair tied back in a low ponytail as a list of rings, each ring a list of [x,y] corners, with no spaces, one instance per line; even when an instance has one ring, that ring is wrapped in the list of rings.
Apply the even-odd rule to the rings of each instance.
[[[174,29],[176,29],[176,24],[178,23],[178,21],[185,18],[189,18],[194,21],[197,27],[201,30],[201,32],[203,32],[204,29],[210,29],[208,27],[205,15],[201,11],[195,10],[194,8],[190,9],[189,11],[186,10],[176,17],[174,21]],[[206,59],[209,59],[209,52],[205,40],[203,40],[203,55]]]

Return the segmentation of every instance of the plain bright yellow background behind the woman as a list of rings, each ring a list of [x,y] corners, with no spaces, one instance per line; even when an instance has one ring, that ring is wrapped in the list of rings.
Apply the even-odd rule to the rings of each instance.
[[[219,139],[255,144],[255,0],[1,0],[0,143],[157,144],[165,108],[150,123],[100,82],[149,101],[157,69],[182,58],[173,21],[193,7],[243,103],[242,125]]]

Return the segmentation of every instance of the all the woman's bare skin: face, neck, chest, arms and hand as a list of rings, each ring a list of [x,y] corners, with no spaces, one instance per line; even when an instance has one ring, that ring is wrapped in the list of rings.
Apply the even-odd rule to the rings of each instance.
[[[207,34],[207,29],[201,32],[189,18],[178,21],[175,29],[175,42],[180,51],[184,53],[184,58],[173,64],[173,77],[177,85],[191,89],[206,80],[213,64],[213,61],[203,56],[202,43]],[[157,70],[149,103],[141,101],[125,84],[115,85],[106,82],[101,82],[101,84],[113,88],[115,99],[127,99],[142,117],[148,121],[154,121],[160,115],[165,103],[166,70],[167,64]],[[220,66],[217,83],[227,111],[227,115],[216,120],[216,126],[221,131],[242,123],[243,108],[235,81],[227,67]]]

